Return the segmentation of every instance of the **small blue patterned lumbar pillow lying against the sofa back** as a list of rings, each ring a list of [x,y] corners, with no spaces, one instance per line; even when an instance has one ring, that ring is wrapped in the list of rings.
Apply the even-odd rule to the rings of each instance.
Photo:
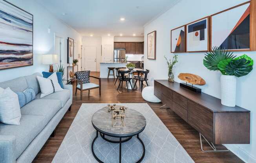
[[[33,88],[27,88],[23,92],[15,92],[18,95],[20,107],[23,107],[32,100],[35,100],[36,94]]]

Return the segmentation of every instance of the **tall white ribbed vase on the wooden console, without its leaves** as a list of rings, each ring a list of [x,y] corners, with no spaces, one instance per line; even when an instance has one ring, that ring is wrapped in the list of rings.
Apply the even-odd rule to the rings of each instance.
[[[221,104],[228,107],[236,106],[236,76],[221,75]]]

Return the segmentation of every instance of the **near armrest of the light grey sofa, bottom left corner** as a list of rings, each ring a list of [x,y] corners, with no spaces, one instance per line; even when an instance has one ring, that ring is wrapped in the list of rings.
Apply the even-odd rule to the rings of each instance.
[[[15,155],[15,136],[0,135],[0,163],[15,163]]]

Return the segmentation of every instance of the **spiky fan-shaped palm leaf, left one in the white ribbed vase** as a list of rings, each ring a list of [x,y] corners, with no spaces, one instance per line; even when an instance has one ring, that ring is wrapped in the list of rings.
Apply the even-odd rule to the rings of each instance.
[[[229,51],[220,49],[219,47],[213,47],[213,50],[205,54],[205,59],[203,60],[203,65],[209,70],[218,71],[218,64],[222,60],[234,59],[236,56]]]

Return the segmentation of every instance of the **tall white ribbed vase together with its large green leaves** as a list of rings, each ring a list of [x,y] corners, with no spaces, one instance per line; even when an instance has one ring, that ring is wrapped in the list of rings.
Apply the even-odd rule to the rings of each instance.
[[[249,74],[252,71],[253,60],[243,54],[240,57],[229,51],[214,47],[205,54],[203,64],[207,69],[221,72],[221,104],[229,107],[236,106],[236,77]]]

